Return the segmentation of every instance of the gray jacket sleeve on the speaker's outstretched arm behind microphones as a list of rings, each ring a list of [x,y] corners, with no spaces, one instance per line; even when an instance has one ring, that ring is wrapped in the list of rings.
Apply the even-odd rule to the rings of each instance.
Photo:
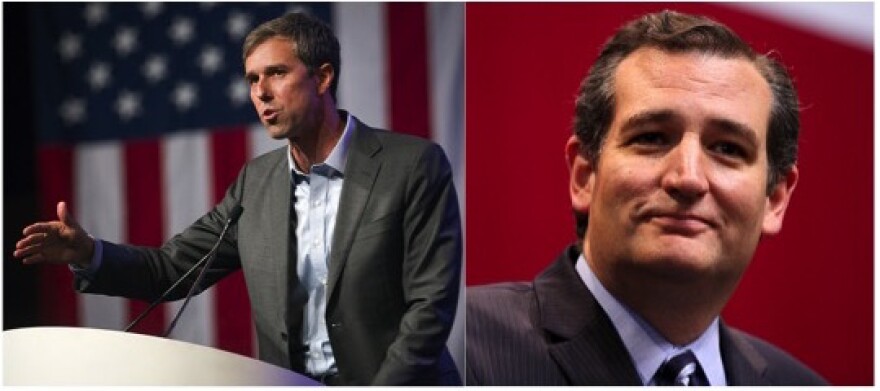
[[[152,301],[158,298],[177,279],[210,251],[217,241],[229,211],[240,202],[241,187],[247,168],[226,192],[223,200],[210,212],[196,220],[160,248],[129,246],[104,242],[101,266],[91,280],[79,275],[74,278],[75,288],[83,293],[100,293],[132,299]],[[230,227],[217,250],[217,258],[196,292],[241,267],[237,249],[237,229]],[[186,296],[198,272],[171,293],[167,300]]]

